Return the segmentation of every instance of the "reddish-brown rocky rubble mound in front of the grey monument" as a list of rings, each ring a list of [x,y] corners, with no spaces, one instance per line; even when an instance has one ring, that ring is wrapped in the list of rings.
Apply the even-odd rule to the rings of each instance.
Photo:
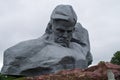
[[[27,80],[108,80],[107,70],[111,70],[116,80],[120,80],[120,66],[100,62],[87,69],[63,70],[56,74],[27,77]]]

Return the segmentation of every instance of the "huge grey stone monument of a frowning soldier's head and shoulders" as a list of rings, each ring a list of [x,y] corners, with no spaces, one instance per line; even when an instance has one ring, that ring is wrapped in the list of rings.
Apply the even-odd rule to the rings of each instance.
[[[87,68],[92,62],[88,32],[77,22],[72,6],[58,5],[45,34],[4,52],[5,75],[36,76],[63,69]]]

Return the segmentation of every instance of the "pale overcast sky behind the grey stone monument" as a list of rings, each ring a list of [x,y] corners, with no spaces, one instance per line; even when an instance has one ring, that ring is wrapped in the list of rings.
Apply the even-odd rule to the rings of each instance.
[[[0,69],[7,48],[42,36],[58,4],[72,5],[88,30],[93,65],[120,50],[120,0],[0,0]]]

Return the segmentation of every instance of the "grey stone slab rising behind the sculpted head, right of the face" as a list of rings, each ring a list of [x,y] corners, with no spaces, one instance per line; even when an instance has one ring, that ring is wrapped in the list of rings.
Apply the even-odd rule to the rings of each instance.
[[[90,65],[92,63],[92,54],[90,52],[89,34],[87,29],[85,29],[80,23],[76,23],[73,39],[71,41],[76,42],[83,47],[83,51],[85,51],[86,55],[86,60],[88,62],[88,65]]]

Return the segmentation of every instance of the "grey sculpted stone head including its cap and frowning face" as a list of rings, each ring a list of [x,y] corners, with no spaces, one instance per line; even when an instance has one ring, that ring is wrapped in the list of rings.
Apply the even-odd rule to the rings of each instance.
[[[57,6],[51,15],[51,39],[64,47],[69,47],[75,29],[77,16],[70,5]]]

